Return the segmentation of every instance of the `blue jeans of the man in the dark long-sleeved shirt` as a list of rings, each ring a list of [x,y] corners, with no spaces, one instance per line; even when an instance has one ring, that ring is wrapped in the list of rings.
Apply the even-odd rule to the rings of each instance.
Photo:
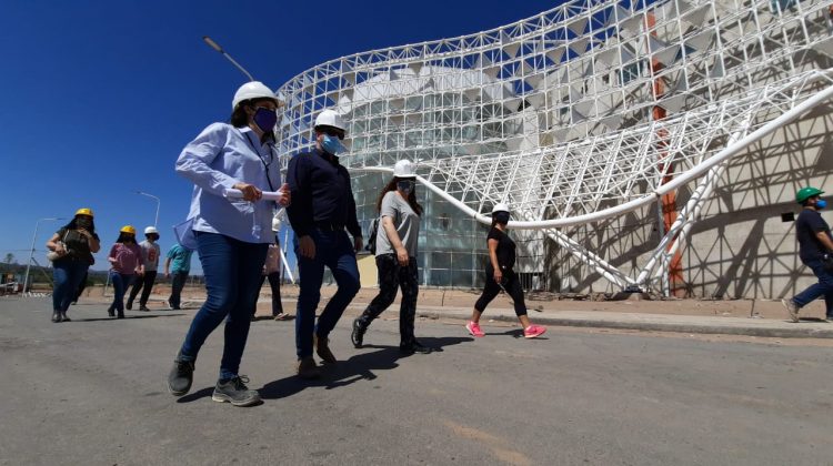
[[[327,338],[361,287],[355,252],[348,234],[344,231],[313,229],[310,236],[315,242],[314,259],[302,257],[298,246],[298,236],[292,240],[301,281],[295,313],[295,350],[299,358],[312,356],[313,332],[320,338]],[[332,272],[339,290],[324,306],[315,325],[315,308],[321,301],[324,266]]]

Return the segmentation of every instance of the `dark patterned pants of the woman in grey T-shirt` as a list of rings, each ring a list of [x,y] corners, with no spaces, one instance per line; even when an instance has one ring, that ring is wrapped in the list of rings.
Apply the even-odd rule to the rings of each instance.
[[[399,265],[397,254],[380,254],[377,256],[379,270],[379,294],[370,302],[359,317],[361,325],[367,328],[374,318],[384,312],[393,300],[397,290],[402,288],[402,303],[399,306],[400,345],[413,343],[413,322],[416,316],[416,296],[420,285],[416,273],[416,257],[410,257],[407,266]]]

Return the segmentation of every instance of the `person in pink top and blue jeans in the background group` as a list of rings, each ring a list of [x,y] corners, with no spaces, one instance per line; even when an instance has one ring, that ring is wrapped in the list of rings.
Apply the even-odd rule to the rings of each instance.
[[[144,273],[142,249],[136,243],[136,229],[124,225],[119,231],[119,239],[107,256],[110,261],[110,282],[113,284],[113,303],[107,310],[112,317],[124,318],[124,291],[133,282],[136,274]]]

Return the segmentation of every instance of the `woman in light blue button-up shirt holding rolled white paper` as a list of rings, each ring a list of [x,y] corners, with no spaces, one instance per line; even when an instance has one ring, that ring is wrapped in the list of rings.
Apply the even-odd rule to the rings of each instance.
[[[195,243],[205,276],[208,296],[191,322],[171,372],[168,388],[174,396],[191,389],[194,362],[208,336],[225,323],[220,374],[211,398],[234,406],[261,402],[257,391],[239,374],[258,301],[260,274],[269,244],[275,203],[263,191],[279,192],[287,205],[290,194],[281,185],[274,148],[274,125],[283,102],[263,83],[252,81],[232,100],[231,124],[213,123],[188,143],[177,160],[177,173],[194,184],[191,211],[180,243]],[[280,188],[280,190],[279,190]],[[238,190],[242,199],[227,197]],[[182,226],[182,225],[180,225]]]

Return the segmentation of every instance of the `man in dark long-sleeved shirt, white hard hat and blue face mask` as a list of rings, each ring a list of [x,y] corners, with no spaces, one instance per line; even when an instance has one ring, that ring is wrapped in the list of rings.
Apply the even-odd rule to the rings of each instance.
[[[295,347],[298,375],[302,378],[320,375],[312,357],[313,345],[323,362],[335,363],[328,335],[359,292],[355,252],[362,249],[350,174],[338,158],[343,149],[340,140],[344,139],[344,122],[334,111],[324,110],[315,119],[314,131],[315,146],[312,152],[293,156],[287,171],[287,182],[292,193],[292,204],[287,207],[287,214],[295,233],[293,242],[301,282]],[[344,229],[353,236],[352,244]],[[324,266],[332,272],[339,288],[315,325]]]

